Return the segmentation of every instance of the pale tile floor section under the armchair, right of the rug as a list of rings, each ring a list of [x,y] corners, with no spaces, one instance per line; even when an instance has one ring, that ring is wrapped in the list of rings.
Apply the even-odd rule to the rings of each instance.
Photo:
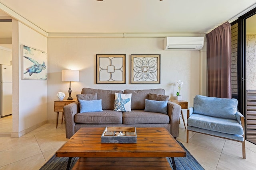
[[[256,170],[256,145],[246,141],[246,159],[242,158],[240,142],[212,137],[199,133],[189,133],[180,124],[177,140],[198,160],[206,170]]]

